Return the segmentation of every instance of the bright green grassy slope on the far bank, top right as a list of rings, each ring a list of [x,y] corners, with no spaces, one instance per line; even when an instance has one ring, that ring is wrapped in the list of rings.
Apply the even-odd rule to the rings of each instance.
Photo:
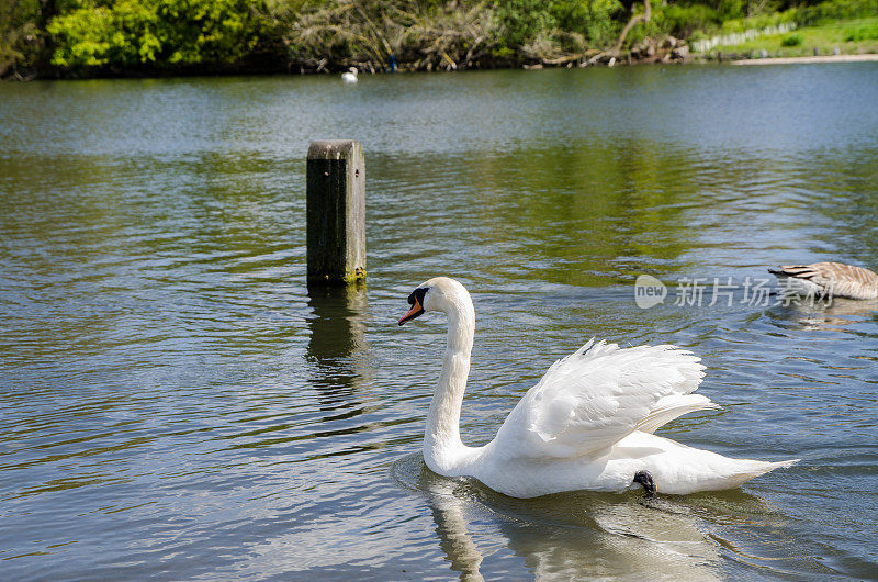
[[[758,57],[766,51],[773,57],[878,53],[878,16],[802,26],[786,34],[759,36],[735,45],[719,45],[711,53]]]

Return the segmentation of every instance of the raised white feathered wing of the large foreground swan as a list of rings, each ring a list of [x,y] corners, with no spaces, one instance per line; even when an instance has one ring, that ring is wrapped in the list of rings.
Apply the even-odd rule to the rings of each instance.
[[[553,363],[503,423],[494,441],[508,457],[564,458],[652,433],[687,412],[718,407],[693,394],[703,366],[675,346],[620,348],[589,342]]]

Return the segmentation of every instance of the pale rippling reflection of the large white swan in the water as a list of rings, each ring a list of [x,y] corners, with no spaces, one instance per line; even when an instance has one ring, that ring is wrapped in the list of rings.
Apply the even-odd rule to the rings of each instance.
[[[409,485],[429,500],[439,546],[461,580],[483,580],[483,562],[502,547],[538,579],[649,573],[718,580],[731,545],[717,525],[761,525],[774,513],[740,490],[656,500],[592,492],[519,500],[475,480],[440,477],[416,456],[406,463],[416,473]],[[494,567],[491,573],[497,574]]]

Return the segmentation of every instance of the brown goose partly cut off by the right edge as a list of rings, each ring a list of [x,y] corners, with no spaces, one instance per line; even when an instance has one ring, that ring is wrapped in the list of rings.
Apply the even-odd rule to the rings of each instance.
[[[876,299],[878,275],[844,262],[812,262],[811,265],[784,265],[768,269],[786,291],[815,296]]]

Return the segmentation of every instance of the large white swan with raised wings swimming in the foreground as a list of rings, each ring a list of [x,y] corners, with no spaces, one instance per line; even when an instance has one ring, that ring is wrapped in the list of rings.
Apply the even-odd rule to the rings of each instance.
[[[556,361],[518,402],[494,440],[468,447],[460,408],[475,312],[461,283],[437,277],[408,296],[399,325],[428,311],[448,315],[448,347],[424,433],[424,460],[446,477],[474,477],[514,497],[573,490],[684,494],[738,486],[798,459],[730,459],[653,432],[677,416],[717,408],[693,394],[703,366],[675,346],[586,344]]]

